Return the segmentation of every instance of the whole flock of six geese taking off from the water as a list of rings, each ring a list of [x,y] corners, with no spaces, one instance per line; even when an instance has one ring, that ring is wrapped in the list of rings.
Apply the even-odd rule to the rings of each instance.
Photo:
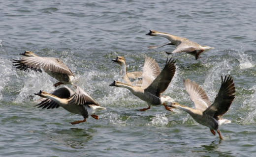
[[[155,30],[150,30],[146,35],[160,36],[170,41],[160,46],[149,46],[150,49],[175,45],[176,49],[171,53],[186,52],[194,55],[195,59],[201,58],[200,54],[202,52],[214,49],[209,46],[201,46],[187,38]],[[170,54],[170,52],[166,53]],[[13,63],[15,63],[13,66],[17,69],[23,71],[33,70],[41,73],[44,71],[59,81],[54,84],[55,87],[61,84],[71,84],[75,88],[73,91],[69,87],[64,86],[51,93],[42,90],[34,93],[42,97],[38,100],[40,103],[35,105],[38,108],[53,109],[61,106],[71,113],[83,116],[83,120],[70,122],[72,125],[86,122],[89,116],[98,119],[95,113],[106,109],[105,107],[101,107],[88,93],[76,85],[77,78],[60,59],[37,56],[29,51],[20,54],[22,55],[20,59],[13,59]],[[146,111],[152,105],[163,105],[167,111],[171,112],[175,112],[173,108],[180,109],[189,113],[197,123],[210,128],[212,134],[215,135],[215,131],[217,131],[219,138],[223,139],[220,126],[224,123],[230,123],[230,121],[222,118],[222,116],[228,111],[232,101],[235,99],[235,84],[231,76],[221,76],[221,87],[213,103],[209,101],[202,87],[195,83],[195,81],[191,81],[188,78],[184,79],[185,89],[194,104],[194,108],[191,108],[174,102],[170,96],[162,95],[175,75],[175,59],[167,58],[165,66],[160,70],[155,59],[145,56],[143,70],[140,72],[127,72],[127,64],[123,56],[117,56],[112,61],[121,66],[120,76],[124,82],[114,80],[109,86],[127,88],[134,96],[146,102],[148,107],[137,109],[138,111]]]

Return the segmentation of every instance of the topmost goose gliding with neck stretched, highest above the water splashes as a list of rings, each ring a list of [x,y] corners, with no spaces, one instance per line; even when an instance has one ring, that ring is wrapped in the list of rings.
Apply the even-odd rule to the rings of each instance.
[[[156,30],[149,30],[149,33],[147,33],[146,35],[161,36],[161,37],[164,37],[164,38],[166,38],[170,41],[170,42],[168,42],[166,44],[163,44],[163,45],[160,45],[160,46],[149,46],[148,48],[157,49],[157,48],[163,47],[165,45],[175,45],[176,49],[171,53],[187,52],[191,55],[194,55],[196,60],[198,58],[201,58],[199,55],[202,52],[207,52],[211,49],[214,49],[214,48],[209,47],[209,46],[201,46],[201,45],[199,45],[195,42],[192,42],[192,41],[188,40],[187,38],[182,38],[182,37],[174,36],[174,35],[171,35],[171,34],[158,32]],[[166,52],[166,53],[171,54],[170,52]]]

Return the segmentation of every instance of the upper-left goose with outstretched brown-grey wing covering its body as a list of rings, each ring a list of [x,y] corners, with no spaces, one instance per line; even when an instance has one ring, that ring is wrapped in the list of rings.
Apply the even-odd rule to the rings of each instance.
[[[59,80],[59,82],[54,84],[55,87],[61,84],[73,83],[75,75],[60,59],[54,57],[40,57],[29,51],[20,54],[24,55],[21,59],[13,59],[13,63],[17,63],[13,66],[16,66],[17,69],[23,71],[34,70],[41,73],[41,69],[43,69],[51,77]]]

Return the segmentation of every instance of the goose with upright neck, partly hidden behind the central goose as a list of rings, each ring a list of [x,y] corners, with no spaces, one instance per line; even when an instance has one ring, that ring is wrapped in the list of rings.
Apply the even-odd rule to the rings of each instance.
[[[119,65],[121,65],[121,70],[120,70],[120,75],[123,76],[123,79],[125,80],[126,83],[128,84],[134,84],[132,83],[129,78],[131,79],[137,79],[140,78],[136,84],[141,84],[142,83],[142,73],[143,72],[131,72],[128,73],[127,72],[127,65],[126,65],[126,60],[125,57],[123,56],[117,56],[116,59],[112,59],[113,62],[118,63]],[[151,76],[152,81],[157,78],[157,76],[160,74],[160,68],[158,63],[156,62],[155,59],[151,58],[151,57],[147,57],[145,56],[145,62],[144,62],[144,71],[150,71],[150,72],[154,72],[152,73],[153,76]]]

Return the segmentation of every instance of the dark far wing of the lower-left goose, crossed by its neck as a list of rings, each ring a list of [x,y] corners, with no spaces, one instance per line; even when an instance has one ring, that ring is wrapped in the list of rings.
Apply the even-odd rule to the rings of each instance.
[[[73,95],[73,93],[74,92],[68,87],[62,87],[62,88],[56,89],[50,94],[55,95],[62,99],[68,99],[71,95]],[[42,102],[35,106],[38,106],[38,108],[42,107],[47,109],[60,107],[60,105],[55,103],[55,101],[52,101],[51,99],[46,99],[46,98],[42,99]]]

